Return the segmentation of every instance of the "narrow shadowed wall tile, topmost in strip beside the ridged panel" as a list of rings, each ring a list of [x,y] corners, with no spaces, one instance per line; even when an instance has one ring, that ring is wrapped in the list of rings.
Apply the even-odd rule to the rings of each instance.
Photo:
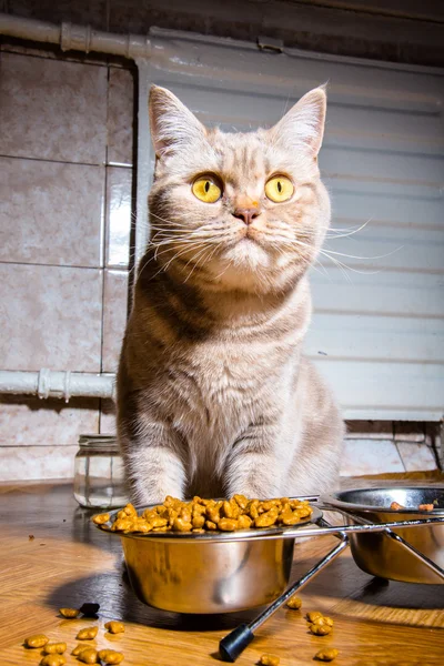
[[[110,68],[108,95],[108,163],[132,164],[133,71]],[[148,110],[147,110],[148,113]]]

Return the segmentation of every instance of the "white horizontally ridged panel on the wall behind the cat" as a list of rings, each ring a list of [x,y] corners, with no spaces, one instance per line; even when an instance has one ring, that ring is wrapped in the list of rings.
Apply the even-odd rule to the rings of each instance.
[[[321,258],[312,271],[315,315],[305,350],[346,418],[440,420],[444,72],[294,50],[265,53],[250,43],[163,30],[150,39],[152,56],[138,63],[142,95],[147,82],[170,88],[204,123],[226,131],[270,125],[329,81],[320,163],[332,226],[345,231],[325,248],[350,269]],[[152,172],[144,145],[142,137],[142,189],[144,162]]]

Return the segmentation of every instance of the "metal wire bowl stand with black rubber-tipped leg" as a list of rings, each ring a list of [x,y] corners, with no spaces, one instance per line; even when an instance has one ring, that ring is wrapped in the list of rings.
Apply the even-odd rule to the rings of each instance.
[[[301,500],[307,500],[309,502],[317,503],[317,496],[301,497]],[[352,516],[353,519],[359,523],[357,525],[336,526],[331,525],[325,518],[319,518],[316,521],[317,527],[315,528],[303,528],[289,531],[285,529],[285,538],[291,536],[292,538],[301,538],[307,536],[324,536],[327,534],[334,534],[340,543],[332,548],[322,559],[317,562],[306,574],[295,581],[280,597],[275,599],[265,610],[260,613],[255,619],[249,624],[241,624],[239,627],[230,632],[219,644],[220,657],[223,662],[235,662],[235,659],[242,654],[248,645],[254,638],[254,632],[271,617],[281,606],[283,606],[295,592],[304,587],[309,581],[313,579],[321,573],[333,559],[335,559],[347,546],[349,546],[349,534],[360,534],[369,532],[383,532],[387,538],[395,539],[400,546],[407,549],[412,555],[421,559],[428,568],[444,579],[444,569],[435,564],[432,559],[420,553],[414,548],[405,538],[392,532],[393,527],[421,527],[424,525],[431,525],[434,523],[444,524],[444,518],[424,518],[415,521],[397,521],[393,523],[371,523],[365,521],[350,511],[343,511],[335,506],[324,504],[320,508],[334,511],[335,513],[342,513],[347,516]],[[271,534],[264,535],[261,538],[282,538],[283,534]],[[258,537],[260,538],[260,537]]]

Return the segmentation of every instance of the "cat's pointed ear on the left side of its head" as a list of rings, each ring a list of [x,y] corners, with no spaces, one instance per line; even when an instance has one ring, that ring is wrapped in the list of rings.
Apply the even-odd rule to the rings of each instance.
[[[186,148],[195,139],[202,139],[206,134],[203,124],[167,88],[151,87],[148,109],[151,138],[158,158]]]

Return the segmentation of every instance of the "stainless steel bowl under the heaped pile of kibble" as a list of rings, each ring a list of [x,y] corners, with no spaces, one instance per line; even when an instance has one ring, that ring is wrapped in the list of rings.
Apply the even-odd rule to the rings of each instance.
[[[311,519],[297,527],[321,517],[313,507]],[[285,538],[285,532],[295,527],[112,534],[121,538],[131,586],[145,604],[175,613],[231,613],[263,606],[282,594],[294,549],[294,537]],[[261,538],[281,533],[282,538]]]

